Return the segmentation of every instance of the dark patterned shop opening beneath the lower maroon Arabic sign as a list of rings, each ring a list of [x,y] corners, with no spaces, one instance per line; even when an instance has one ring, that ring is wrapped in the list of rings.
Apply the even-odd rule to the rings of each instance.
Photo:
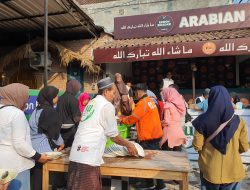
[[[167,72],[172,72],[172,79],[181,89],[191,89],[192,63],[197,67],[196,88],[204,89],[218,84],[227,88],[235,87],[234,56],[134,62],[132,63],[133,82],[147,83],[150,90],[158,92],[162,79],[166,77]]]

